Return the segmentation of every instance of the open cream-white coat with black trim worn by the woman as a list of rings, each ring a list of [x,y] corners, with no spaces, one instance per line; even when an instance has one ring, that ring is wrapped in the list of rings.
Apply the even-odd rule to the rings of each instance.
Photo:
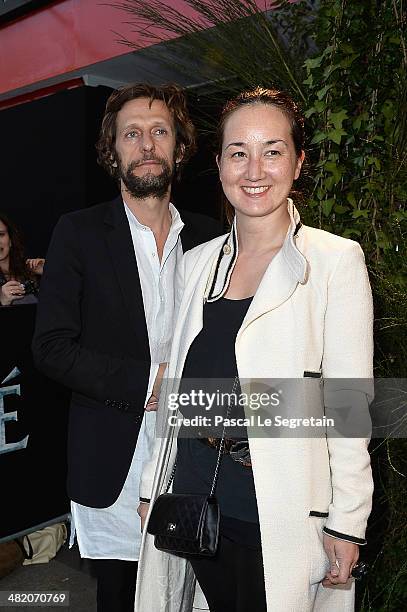
[[[366,411],[373,314],[363,252],[352,240],[307,226],[294,236],[299,215],[290,200],[288,208],[291,226],[284,245],[268,266],[237,335],[239,376],[302,379],[311,371],[323,379],[367,379],[351,391],[358,410]],[[185,256],[184,293],[158,414],[160,431],[168,433],[165,397],[177,390],[188,349],[202,329],[216,261],[225,240],[232,245],[232,233]],[[214,351],[220,348],[214,346]],[[322,397],[330,401],[327,394]],[[321,585],[329,566],[322,528],[364,538],[373,488],[368,440],[253,437],[249,443],[268,610],[351,612],[352,581],[333,589]],[[171,432],[161,444],[157,441],[155,457],[144,470],[142,497],[153,501],[163,492],[175,455]],[[329,516],[309,516],[310,511]],[[194,576],[189,563],[156,550],[153,540],[145,530],[136,612],[190,612]]]

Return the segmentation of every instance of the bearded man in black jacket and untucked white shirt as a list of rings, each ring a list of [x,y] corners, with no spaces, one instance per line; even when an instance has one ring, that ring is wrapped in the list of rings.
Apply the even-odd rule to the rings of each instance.
[[[184,225],[170,203],[194,146],[176,86],[114,92],[97,149],[121,197],[64,215],[47,255],[33,350],[38,368],[73,391],[68,494],[80,553],[96,560],[99,612],[133,610],[138,484],[155,416],[144,409],[155,407],[168,356],[177,265],[219,233],[198,215]]]

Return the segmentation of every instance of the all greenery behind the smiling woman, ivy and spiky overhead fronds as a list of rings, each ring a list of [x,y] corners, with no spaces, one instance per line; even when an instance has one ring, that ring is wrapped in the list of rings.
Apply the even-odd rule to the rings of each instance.
[[[375,302],[376,376],[406,377],[407,55],[404,0],[168,0],[116,3],[131,15],[139,44],[160,65],[212,82],[200,93],[200,126],[236,91],[280,87],[302,104],[309,150],[302,216],[361,243]],[[206,29],[205,28],[209,28]],[[205,30],[204,32],[202,30]],[[157,43],[174,38],[165,48]],[[303,185],[303,186],[304,186]],[[385,511],[360,597],[363,612],[399,612],[407,601],[405,440],[373,453]],[[379,534],[379,536],[377,536]]]

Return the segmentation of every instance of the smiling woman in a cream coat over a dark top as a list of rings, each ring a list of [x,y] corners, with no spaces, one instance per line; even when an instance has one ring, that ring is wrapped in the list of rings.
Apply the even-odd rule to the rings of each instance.
[[[261,88],[241,94],[223,110],[219,143],[217,163],[233,227],[185,256],[167,397],[182,376],[197,374],[194,363],[206,376],[223,354],[221,376],[233,378],[235,371],[241,380],[371,378],[372,301],[362,250],[302,225],[288,197],[304,161],[295,103]],[[352,387],[352,398],[367,410],[368,382]],[[164,398],[164,425],[165,404]],[[314,408],[318,413],[318,402]],[[322,416],[323,405],[320,410]],[[141,496],[152,502],[165,489],[177,454],[174,431],[167,427],[164,433],[142,479]],[[246,470],[240,481],[228,473],[232,484],[222,488],[219,479],[215,558],[187,561],[159,552],[144,530],[137,612],[191,610],[194,573],[212,612],[353,610],[350,573],[365,544],[371,508],[368,441],[252,433],[249,466],[235,461]],[[192,455],[198,445],[178,440],[177,492],[196,493],[212,476],[207,456],[201,452],[197,461]],[[221,471],[233,461],[224,455]],[[189,478],[188,469],[194,470]],[[141,504],[139,512],[146,515],[147,507]]]

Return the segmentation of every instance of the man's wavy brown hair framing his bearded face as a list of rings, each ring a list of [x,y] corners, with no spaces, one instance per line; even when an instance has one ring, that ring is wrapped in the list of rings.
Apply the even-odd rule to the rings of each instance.
[[[171,113],[175,127],[174,158],[182,155],[182,160],[176,166],[176,175],[179,177],[182,166],[195,153],[196,132],[189,117],[184,92],[175,84],[169,83],[155,87],[148,83],[135,83],[126,85],[114,91],[107,103],[100,129],[99,140],[96,143],[98,163],[115,179],[119,178],[119,163],[116,152],[117,113],[126,102],[137,98],[148,98],[150,106],[154,100],[161,100]]]

